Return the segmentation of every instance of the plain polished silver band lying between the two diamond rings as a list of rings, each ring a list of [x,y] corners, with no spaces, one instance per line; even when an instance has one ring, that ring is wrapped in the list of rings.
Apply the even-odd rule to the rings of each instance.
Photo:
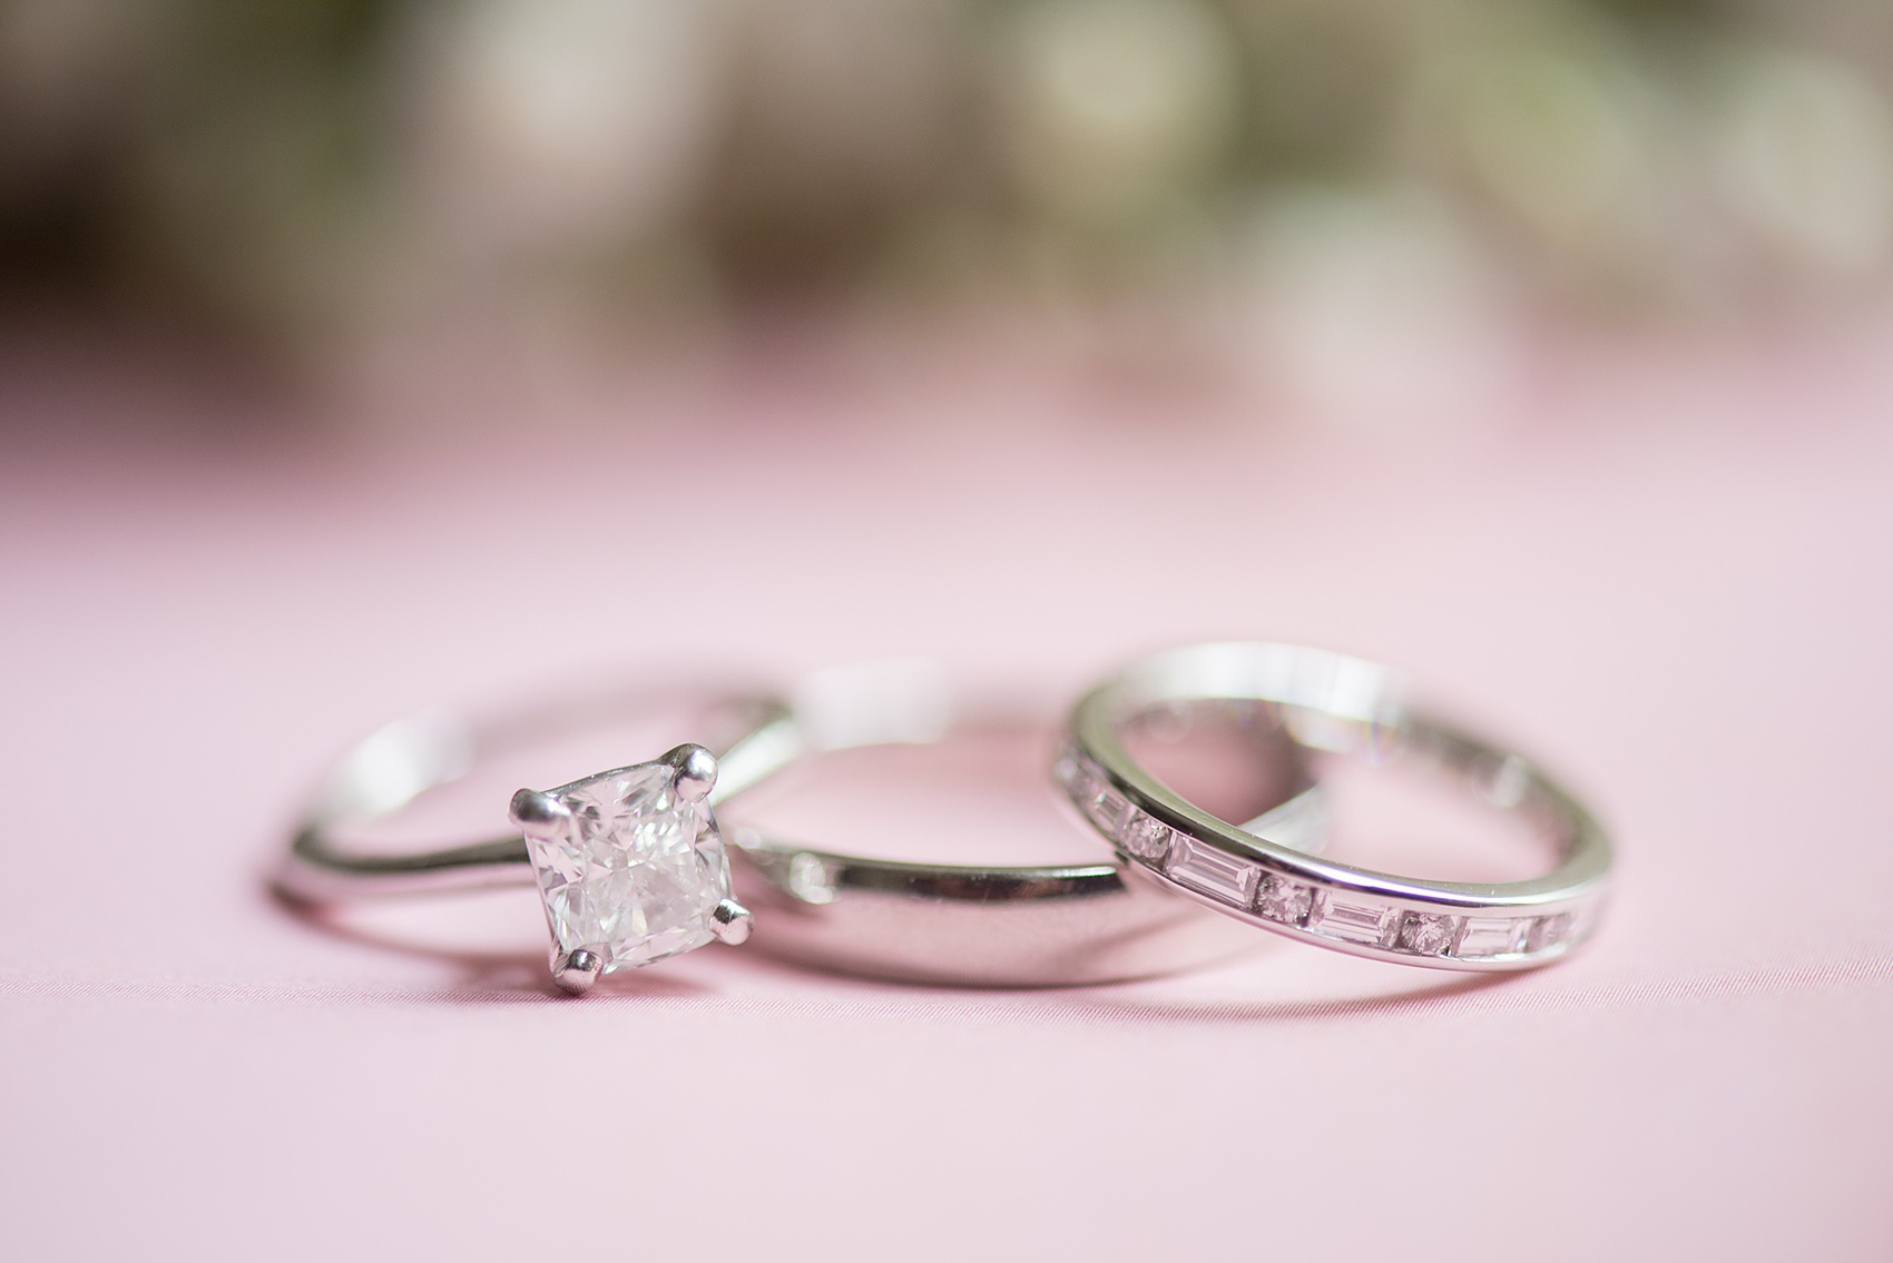
[[[795,690],[803,749],[822,754],[946,739],[988,743],[1041,783],[1054,724],[1003,705],[954,711],[954,690],[924,662],[875,662],[808,677]],[[1045,747],[1039,751],[1039,737]],[[1272,809],[1249,828],[1285,845],[1325,838],[1304,751],[1280,730],[1240,751]],[[960,747],[965,749],[965,747]],[[1024,783],[1024,781],[1022,781]],[[1005,785],[994,785],[1003,794]],[[1051,805],[1051,804],[1049,804]],[[725,815],[742,819],[748,804]],[[977,804],[969,828],[981,828]],[[1045,824],[1056,834],[1056,811]],[[1153,978],[1255,947],[1227,917],[1124,881],[1119,864],[912,864],[812,849],[729,824],[736,885],[769,919],[759,951],[825,970],[909,983],[1066,987]]]

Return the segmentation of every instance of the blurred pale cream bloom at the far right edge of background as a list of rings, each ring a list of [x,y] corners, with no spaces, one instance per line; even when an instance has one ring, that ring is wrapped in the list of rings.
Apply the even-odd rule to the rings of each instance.
[[[1728,210],[1795,265],[1851,280],[1893,246],[1893,117],[1849,68],[1766,51],[1730,66],[1713,119]]]

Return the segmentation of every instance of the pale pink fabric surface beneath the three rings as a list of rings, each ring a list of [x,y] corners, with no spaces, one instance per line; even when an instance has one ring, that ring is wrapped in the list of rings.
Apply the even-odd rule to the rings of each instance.
[[[27,365],[0,1257],[1893,1257],[1889,348],[1548,357],[1427,431],[996,369],[256,441]],[[640,577],[681,522],[716,565]],[[1558,770],[1620,847],[1596,945],[1049,993],[712,947],[560,1002],[259,883],[430,701],[897,652],[1054,700],[1212,635],[1395,662]]]

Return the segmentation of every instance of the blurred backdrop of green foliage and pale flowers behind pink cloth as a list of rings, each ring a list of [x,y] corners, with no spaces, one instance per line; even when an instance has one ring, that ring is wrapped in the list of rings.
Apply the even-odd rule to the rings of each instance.
[[[1310,267],[1726,321],[1882,289],[1889,72],[1887,0],[8,0],[0,274],[292,346]]]

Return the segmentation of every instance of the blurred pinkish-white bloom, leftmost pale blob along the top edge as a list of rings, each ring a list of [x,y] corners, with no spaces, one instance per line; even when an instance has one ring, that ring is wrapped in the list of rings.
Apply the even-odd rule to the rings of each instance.
[[[401,79],[435,225],[475,255],[558,253],[678,217],[721,100],[699,0],[471,0],[426,11]]]

